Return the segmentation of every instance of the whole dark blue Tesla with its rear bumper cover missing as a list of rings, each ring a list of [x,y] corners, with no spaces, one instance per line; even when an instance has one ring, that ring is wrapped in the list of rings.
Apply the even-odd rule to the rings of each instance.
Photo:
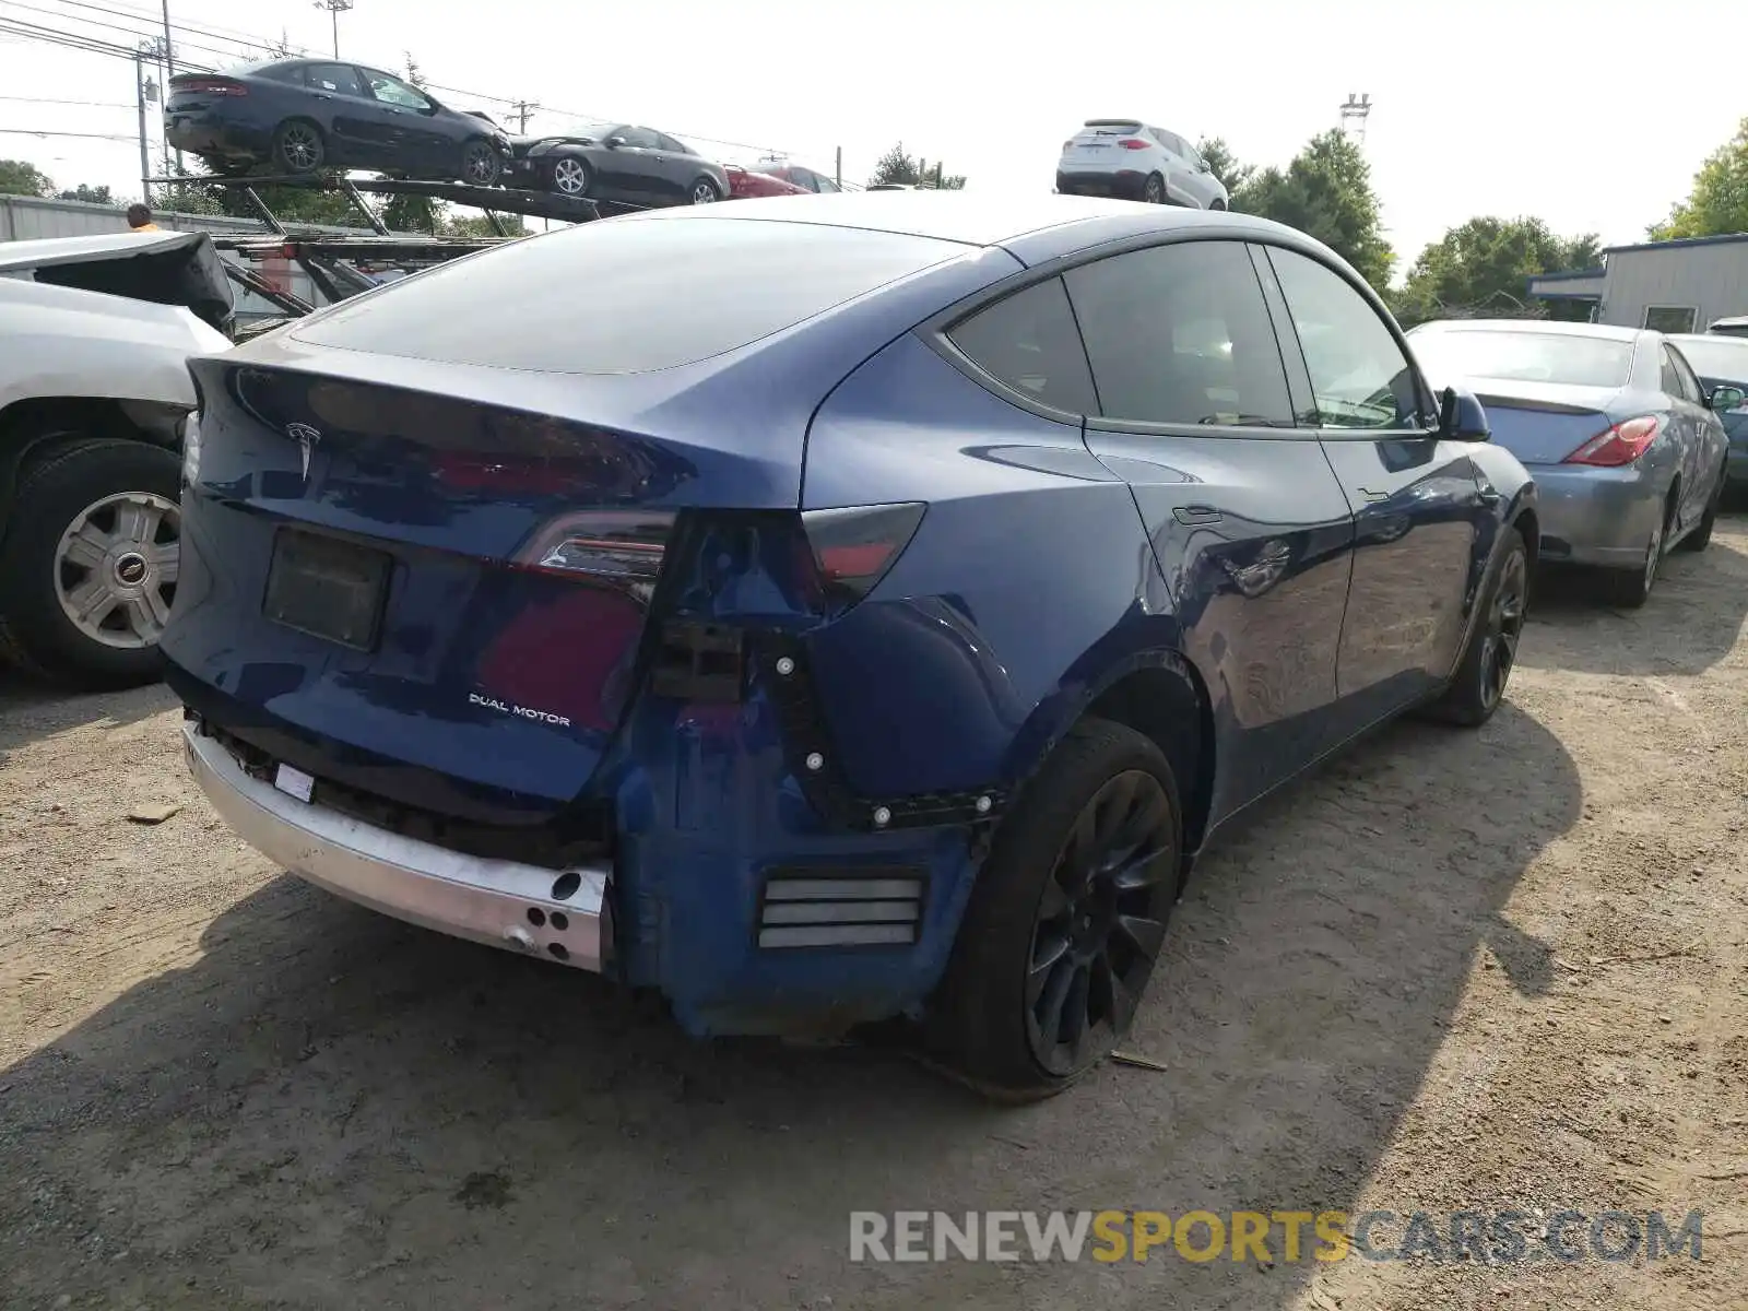
[[[1224,213],[652,212],[192,371],[164,652],[248,843],[1010,1098],[1122,1037],[1222,823],[1495,711],[1538,542],[1365,283]]]

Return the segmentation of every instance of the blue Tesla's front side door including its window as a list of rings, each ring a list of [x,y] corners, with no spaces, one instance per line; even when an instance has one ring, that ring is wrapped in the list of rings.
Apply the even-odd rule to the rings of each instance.
[[[1295,420],[1320,439],[1355,521],[1341,696],[1355,718],[1383,718],[1454,668],[1495,510],[1470,444],[1439,440],[1419,369],[1358,285],[1297,250],[1259,255],[1297,337]]]

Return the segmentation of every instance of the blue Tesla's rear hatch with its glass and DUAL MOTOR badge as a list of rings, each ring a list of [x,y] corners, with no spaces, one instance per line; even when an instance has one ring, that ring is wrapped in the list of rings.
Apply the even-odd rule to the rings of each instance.
[[[970,290],[989,274],[968,253],[615,218],[194,362],[173,683],[218,694],[243,736],[357,753],[350,781],[407,804],[427,801],[397,795],[395,764],[491,804],[577,797],[633,694],[676,524],[797,512],[813,409],[923,316],[867,294],[942,264]]]

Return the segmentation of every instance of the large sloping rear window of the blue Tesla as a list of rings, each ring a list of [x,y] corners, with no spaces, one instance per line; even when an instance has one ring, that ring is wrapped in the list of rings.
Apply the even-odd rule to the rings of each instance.
[[[608,220],[439,266],[292,334],[444,364],[635,374],[738,350],[963,253],[818,224]]]

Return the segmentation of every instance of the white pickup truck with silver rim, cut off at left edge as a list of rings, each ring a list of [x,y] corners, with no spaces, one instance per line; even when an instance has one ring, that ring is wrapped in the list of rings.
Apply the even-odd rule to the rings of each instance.
[[[159,673],[187,358],[227,350],[205,232],[0,243],[0,657],[84,687]]]

